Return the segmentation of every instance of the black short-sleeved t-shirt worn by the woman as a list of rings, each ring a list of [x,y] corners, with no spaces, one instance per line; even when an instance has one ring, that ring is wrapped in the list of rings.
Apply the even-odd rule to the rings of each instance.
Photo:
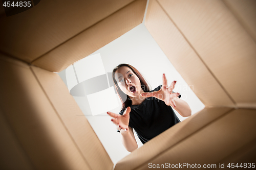
[[[161,87],[162,85],[150,92],[158,91]],[[180,122],[171,106],[154,97],[146,98],[140,105],[130,107],[129,127],[134,128],[143,144]],[[119,114],[122,115],[123,112],[121,110]]]

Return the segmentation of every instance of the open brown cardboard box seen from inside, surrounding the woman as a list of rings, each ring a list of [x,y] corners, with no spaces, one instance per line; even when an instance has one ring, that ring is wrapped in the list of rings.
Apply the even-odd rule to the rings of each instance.
[[[60,77],[142,22],[146,0],[41,1],[0,19],[1,169],[253,163],[256,1],[150,0],[145,26],[206,106],[115,167]],[[240,165],[240,164],[239,164]],[[187,166],[184,166],[187,167]]]

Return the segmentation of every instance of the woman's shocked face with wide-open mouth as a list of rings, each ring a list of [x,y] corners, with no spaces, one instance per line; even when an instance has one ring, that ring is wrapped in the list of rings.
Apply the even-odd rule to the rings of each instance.
[[[139,96],[143,92],[139,78],[130,67],[122,66],[118,68],[115,79],[120,89],[131,97]]]

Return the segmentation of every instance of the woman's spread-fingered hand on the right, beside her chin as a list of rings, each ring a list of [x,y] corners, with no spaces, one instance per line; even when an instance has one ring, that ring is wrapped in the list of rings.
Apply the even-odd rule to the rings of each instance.
[[[180,93],[173,93],[175,84],[176,81],[173,81],[172,84],[170,84],[170,86],[168,87],[167,79],[163,74],[163,85],[161,89],[158,91],[142,93],[141,96],[145,96],[146,98],[155,97],[161,101],[164,101],[164,103],[168,106],[176,107],[174,99],[176,98],[176,96],[179,96]]]

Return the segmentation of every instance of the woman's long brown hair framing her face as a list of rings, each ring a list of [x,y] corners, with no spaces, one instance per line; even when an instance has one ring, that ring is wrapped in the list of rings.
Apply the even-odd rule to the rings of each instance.
[[[134,72],[134,74],[139,78],[140,80],[140,84],[141,84],[141,88],[144,92],[150,92],[151,91],[151,87],[147,84],[146,80],[143,78],[143,76],[140,74],[140,72],[133,67],[130,64],[119,64],[118,66],[116,66],[116,68],[113,69],[112,71],[112,79],[114,81],[115,84],[115,88],[117,91],[117,94],[122,102],[122,109],[127,108],[128,106],[132,105],[132,100],[129,98],[129,95],[125,94],[124,92],[122,92],[122,90],[120,89],[120,87],[117,84],[117,81],[115,79],[115,72],[118,68],[122,67],[122,66],[127,66],[129,68],[131,68],[131,70]]]

